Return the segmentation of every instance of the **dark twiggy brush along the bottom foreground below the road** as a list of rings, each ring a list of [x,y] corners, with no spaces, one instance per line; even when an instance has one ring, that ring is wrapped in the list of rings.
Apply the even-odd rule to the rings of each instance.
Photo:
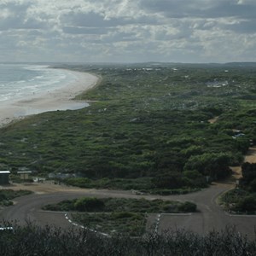
[[[28,224],[15,226],[14,232],[0,231],[0,252],[15,255],[77,255],[77,256],[253,256],[255,241],[248,241],[236,230],[211,232],[207,236],[183,230],[171,230],[164,235],[148,233],[141,238],[104,237],[88,230],[59,230]]]

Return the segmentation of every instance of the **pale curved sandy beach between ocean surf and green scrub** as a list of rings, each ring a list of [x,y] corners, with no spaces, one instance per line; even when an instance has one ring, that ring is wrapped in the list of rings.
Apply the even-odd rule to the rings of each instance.
[[[98,77],[90,73],[73,72],[75,81],[63,84],[57,90],[48,90],[44,94],[26,96],[19,101],[9,100],[0,103],[0,127],[9,125],[15,119],[22,119],[27,115],[48,111],[79,109],[88,106],[87,102],[73,100],[85,90],[89,90],[98,82]]]

